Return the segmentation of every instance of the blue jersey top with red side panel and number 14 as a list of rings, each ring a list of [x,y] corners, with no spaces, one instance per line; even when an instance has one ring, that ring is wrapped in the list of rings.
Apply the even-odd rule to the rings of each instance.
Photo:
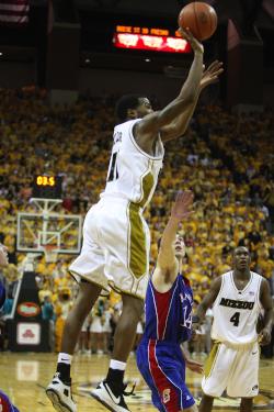
[[[146,301],[145,339],[174,344],[189,341],[192,327],[193,292],[187,279],[178,275],[172,288],[158,292],[149,280]]]

